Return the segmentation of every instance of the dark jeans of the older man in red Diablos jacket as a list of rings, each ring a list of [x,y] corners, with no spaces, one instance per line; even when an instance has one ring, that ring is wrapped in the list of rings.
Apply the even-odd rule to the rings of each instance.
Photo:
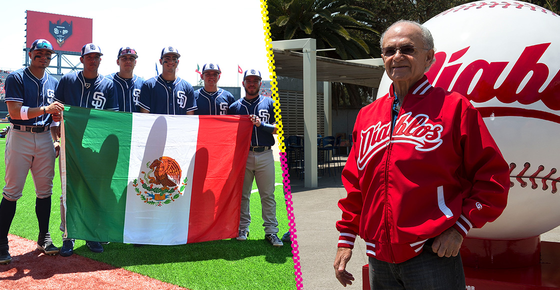
[[[369,258],[370,287],[377,289],[464,290],[465,273],[460,254],[440,258],[431,245],[418,256],[393,264]]]

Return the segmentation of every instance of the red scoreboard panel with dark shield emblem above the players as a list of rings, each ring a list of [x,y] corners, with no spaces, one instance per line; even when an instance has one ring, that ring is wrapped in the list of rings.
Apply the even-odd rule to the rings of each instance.
[[[26,47],[36,39],[46,39],[54,50],[80,53],[83,45],[92,42],[93,23],[91,18],[27,10]]]

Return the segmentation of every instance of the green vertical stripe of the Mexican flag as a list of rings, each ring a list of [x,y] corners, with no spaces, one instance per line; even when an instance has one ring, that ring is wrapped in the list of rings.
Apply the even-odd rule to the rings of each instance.
[[[101,241],[123,236],[131,131],[132,113],[64,107],[67,180],[76,180],[66,184],[69,237],[89,240],[88,225],[103,225]]]

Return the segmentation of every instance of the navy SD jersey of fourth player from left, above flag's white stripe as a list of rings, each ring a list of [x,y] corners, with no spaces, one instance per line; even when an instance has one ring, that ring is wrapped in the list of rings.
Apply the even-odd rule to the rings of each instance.
[[[138,106],[152,114],[185,115],[197,110],[194,89],[186,80],[166,81],[161,75],[146,80],[140,92]]]

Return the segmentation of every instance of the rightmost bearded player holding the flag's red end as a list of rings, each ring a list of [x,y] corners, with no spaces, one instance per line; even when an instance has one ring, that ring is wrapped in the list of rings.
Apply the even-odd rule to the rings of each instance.
[[[253,135],[245,167],[245,179],[241,194],[241,218],[237,240],[245,241],[249,236],[251,214],[249,197],[253,187],[253,179],[259,189],[260,203],[263,210],[264,238],[273,246],[283,246],[278,238],[278,221],[276,220],[276,201],[274,200],[274,158],[271,147],[276,134],[276,117],[274,101],[259,95],[260,72],[255,69],[246,70],[243,74],[245,97],[230,106],[230,115],[249,115],[253,121]]]

